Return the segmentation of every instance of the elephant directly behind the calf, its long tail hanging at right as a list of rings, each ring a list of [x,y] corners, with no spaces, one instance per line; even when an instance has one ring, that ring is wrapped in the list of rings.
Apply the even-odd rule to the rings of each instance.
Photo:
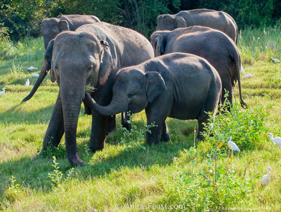
[[[223,32],[201,26],[156,31],[151,35],[151,45],[156,57],[172,52],[184,52],[205,58],[214,66],[222,80],[221,101],[224,101],[227,90],[228,100],[232,103],[232,89],[238,81],[240,103],[246,108],[241,94],[241,56],[235,43]]]

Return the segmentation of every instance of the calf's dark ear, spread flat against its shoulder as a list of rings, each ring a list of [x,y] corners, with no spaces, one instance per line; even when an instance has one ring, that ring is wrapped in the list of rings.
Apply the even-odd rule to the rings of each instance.
[[[148,101],[152,102],[156,96],[166,91],[167,87],[162,76],[157,72],[148,72],[145,77],[147,80],[146,95]]]

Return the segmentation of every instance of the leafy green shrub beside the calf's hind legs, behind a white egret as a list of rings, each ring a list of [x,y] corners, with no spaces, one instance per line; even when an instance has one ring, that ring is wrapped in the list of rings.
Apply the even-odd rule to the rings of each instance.
[[[265,126],[265,119],[269,116],[269,109],[272,104],[262,106],[256,103],[254,108],[242,111],[239,103],[234,103],[230,108],[229,102],[224,103],[220,112],[212,119],[209,114],[209,123],[205,124],[206,131],[203,133],[204,141],[210,142],[213,147],[219,143],[227,141],[232,136],[241,150],[254,149],[257,142],[265,138],[268,128]]]

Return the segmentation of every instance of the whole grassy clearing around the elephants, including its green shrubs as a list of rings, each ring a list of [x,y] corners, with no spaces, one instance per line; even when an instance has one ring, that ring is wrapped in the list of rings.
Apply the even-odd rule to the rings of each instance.
[[[249,109],[236,106],[233,116],[218,118],[214,124],[220,130],[212,139],[194,147],[196,121],[168,119],[171,142],[147,145],[141,132],[125,137],[118,129],[107,137],[103,151],[92,154],[87,151],[91,117],[82,107],[78,153],[88,165],[74,169],[64,145],[37,156],[58,86],[47,76],[34,97],[21,103],[36,81],[27,67],[41,68],[44,47],[42,38],[15,43],[0,61],[0,88],[6,87],[0,97],[0,210],[182,211],[184,205],[186,211],[281,211],[281,148],[265,135],[281,136],[281,64],[270,62],[271,56],[281,59],[280,31],[239,33],[244,70],[255,74],[241,80]],[[239,102],[238,88],[234,91]],[[117,122],[120,126],[120,114]],[[145,123],[143,111],[134,115],[138,129],[144,131]],[[233,154],[223,142],[229,135],[241,152]],[[264,187],[267,166],[272,167],[271,182]]]

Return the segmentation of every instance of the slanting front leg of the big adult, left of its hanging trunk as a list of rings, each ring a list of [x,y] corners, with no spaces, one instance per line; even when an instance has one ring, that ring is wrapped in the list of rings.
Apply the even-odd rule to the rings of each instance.
[[[65,128],[62,113],[62,101],[59,93],[57,101],[54,105],[47,132],[43,140],[43,147],[41,152],[45,151],[47,146],[57,147],[59,145],[60,140],[62,139],[62,135],[64,134],[64,132]]]

